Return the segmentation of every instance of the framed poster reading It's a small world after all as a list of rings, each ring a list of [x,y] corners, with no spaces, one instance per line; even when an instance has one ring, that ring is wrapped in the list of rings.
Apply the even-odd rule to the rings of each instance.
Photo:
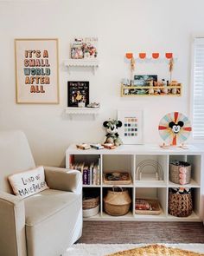
[[[16,39],[16,102],[59,103],[58,39]]]

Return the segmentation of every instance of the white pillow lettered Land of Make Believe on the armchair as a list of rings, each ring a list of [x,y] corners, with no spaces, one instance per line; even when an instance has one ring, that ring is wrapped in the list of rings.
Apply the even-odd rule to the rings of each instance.
[[[45,181],[44,167],[36,167],[29,171],[12,174],[9,176],[9,181],[14,194],[22,198],[37,194],[48,188]]]

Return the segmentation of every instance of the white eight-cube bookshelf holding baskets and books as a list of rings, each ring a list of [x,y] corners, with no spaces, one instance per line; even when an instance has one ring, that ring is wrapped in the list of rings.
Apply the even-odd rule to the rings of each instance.
[[[85,220],[147,220],[147,221],[201,221],[202,220],[202,200],[203,194],[203,174],[202,159],[203,155],[200,149],[189,145],[188,149],[169,148],[163,149],[158,145],[122,145],[116,149],[88,149],[81,150],[71,145],[66,151],[66,167],[70,167],[70,160],[75,161],[99,161],[100,184],[83,185],[83,189],[92,189],[95,187],[100,195],[100,212],[91,218]],[[143,169],[143,180],[137,181],[136,170],[141,161],[157,161],[163,169],[163,181],[156,181],[154,174],[149,167]],[[188,161],[192,165],[192,178],[189,184],[181,186],[169,181],[169,163],[171,161]],[[127,188],[131,195],[130,212],[124,216],[111,216],[104,211],[103,198],[107,190],[112,185],[104,184],[103,174],[106,172],[129,172],[132,183],[129,185],[118,185]],[[116,184],[117,185],[117,184]],[[193,213],[184,218],[172,216],[168,213],[169,188],[170,187],[191,187],[193,194],[194,209]],[[162,207],[162,213],[159,215],[144,215],[135,213],[136,198],[150,198],[159,200]]]

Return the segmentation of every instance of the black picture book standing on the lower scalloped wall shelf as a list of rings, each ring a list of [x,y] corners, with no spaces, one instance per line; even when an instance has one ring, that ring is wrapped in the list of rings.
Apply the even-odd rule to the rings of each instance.
[[[68,81],[68,107],[79,107],[83,102],[84,106],[89,104],[89,82],[88,81]]]

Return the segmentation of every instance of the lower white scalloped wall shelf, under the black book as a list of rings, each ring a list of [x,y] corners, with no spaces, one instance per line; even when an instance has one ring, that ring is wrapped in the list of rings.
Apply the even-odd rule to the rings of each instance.
[[[74,108],[74,107],[67,107],[65,112],[67,115],[70,115],[73,118],[73,115],[92,115],[93,118],[96,115],[99,115],[100,108]]]

